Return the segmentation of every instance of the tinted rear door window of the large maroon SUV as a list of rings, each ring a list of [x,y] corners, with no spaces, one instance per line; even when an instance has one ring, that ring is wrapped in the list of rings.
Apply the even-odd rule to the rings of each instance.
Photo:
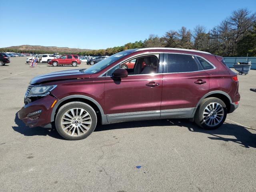
[[[167,54],[164,73],[179,73],[199,71],[194,56],[186,54]]]

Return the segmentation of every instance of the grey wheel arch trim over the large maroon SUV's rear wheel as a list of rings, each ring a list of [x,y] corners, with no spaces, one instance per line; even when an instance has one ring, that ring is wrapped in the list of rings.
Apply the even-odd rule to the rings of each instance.
[[[231,97],[230,97],[226,92],[224,92],[224,91],[211,91],[211,92],[205,94],[205,95],[198,101],[198,103],[196,104],[195,110],[194,110],[194,112],[193,112],[193,116],[194,116],[194,114],[196,113],[196,109],[198,108],[198,106],[200,105],[200,103],[202,103],[202,101],[203,101],[205,98],[208,98],[208,97],[216,97],[216,98],[221,99],[221,100],[226,104],[228,113],[230,112],[230,105],[231,105],[231,103],[232,103]]]

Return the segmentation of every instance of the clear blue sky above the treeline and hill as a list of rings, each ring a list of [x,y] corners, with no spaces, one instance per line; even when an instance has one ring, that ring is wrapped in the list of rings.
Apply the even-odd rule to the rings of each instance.
[[[162,36],[182,26],[208,29],[255,0],[2,0],[0,47],[22,44],[101,49]]]

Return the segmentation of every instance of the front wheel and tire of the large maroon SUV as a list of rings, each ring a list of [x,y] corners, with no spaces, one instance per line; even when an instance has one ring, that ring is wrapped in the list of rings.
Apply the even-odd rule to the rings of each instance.
[[[81,118],[84,121],[80,120]],[[67,140],[85,139],[94,131],[96,124],[96,112],[90,105],[83,102],[64,104],[58,110],[55,119],[56,130]]]

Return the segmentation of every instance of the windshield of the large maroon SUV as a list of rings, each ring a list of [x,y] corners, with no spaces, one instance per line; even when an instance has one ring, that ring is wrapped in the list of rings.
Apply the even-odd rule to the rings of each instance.
[[[97,73],[100,70],[106,68],[110,64],[114,63],[118,59],[123,58],[124,56],[126,56],[128,54],[130,54],[130,52],[122,51],[122,52],[116,53],[116,54],[96,63],[95,65],[91,66],[90,68],[84,70],[84,73],[87,73],[87,74]]]

